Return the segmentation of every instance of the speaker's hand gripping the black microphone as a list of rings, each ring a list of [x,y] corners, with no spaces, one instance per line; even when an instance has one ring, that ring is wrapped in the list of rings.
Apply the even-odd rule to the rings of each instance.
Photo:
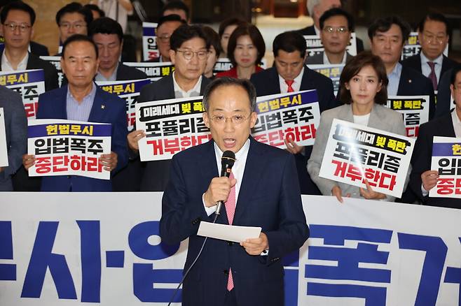
[[[232,166],[235,163],[235,154],[232,151],[226,151],[221,157],[221,177],[214,177],[205,192],[205,205],[212,207],[217,205],[216,214],[221,211],[221,205],[227,201],[231,188],[237,183],[237,180],[230,180]]]

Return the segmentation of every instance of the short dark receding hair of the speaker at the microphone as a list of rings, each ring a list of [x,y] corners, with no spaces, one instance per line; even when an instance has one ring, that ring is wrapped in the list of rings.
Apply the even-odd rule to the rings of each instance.
[[[203,107],[205,111],[209,109],[209,96],[212,95],[215,89],[222,86],[238,86],[245,89],[245,92],[248,94],[248,99],[250,103],[250,109],[252,112],[256,109],[256,89],[252,82],[247,79],[238,79],[238,78],[216,78],[205,88],[205,93],[203,94]]]

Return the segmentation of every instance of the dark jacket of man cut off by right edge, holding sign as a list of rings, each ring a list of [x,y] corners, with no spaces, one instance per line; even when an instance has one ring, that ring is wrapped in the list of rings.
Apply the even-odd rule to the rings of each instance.
[[[422,196],[421,174],[426,170],[431,170],[432,140],[434,136],[456,137],[451,112],[420,126],[415,150],[413,150],[413,156],[411,156],[411,166],[413,167],[410,175],[411,190],[425,205],[461,208],[461,200],[457,198],[429,198],[429,196]]]

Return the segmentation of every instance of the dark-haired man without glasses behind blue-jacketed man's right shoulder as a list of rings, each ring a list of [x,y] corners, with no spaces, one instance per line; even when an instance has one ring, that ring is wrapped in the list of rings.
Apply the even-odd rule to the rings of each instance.
[[[118,81],[147,78],[146,73],[118,61],[123,48],[123,30],[118,22],[109,17],[100,17],[90,24],[88,36],[99,49],[99,69],[95,80]]]

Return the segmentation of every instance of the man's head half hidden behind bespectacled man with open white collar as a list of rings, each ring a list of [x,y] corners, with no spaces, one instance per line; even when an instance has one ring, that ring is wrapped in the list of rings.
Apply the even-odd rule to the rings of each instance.
[[[160,18],[156,30],[157,46],[160,57],[156,57],[149,61],[170,61],[170,37],[174,30],[179,28],[181,24],[186,24],[186,20],[182,20],[181,17],[176,14],[166,15]]]

